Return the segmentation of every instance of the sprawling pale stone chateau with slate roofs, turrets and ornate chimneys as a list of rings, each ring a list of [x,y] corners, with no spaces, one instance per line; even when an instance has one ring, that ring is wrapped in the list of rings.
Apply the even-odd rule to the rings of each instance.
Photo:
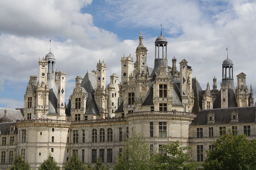
[[[106,64],[99,61],[84,78],[77,75],[68,103],[66,73],[55,69],[55,56],[49,52],[39,59],[39,74],[30,76],[24,108],[0,108],[0,169],[10,167],[17,153],[35,169],[51,153],[64,169],[73,152],[84,164],[95,165],[101,157],[113,167],[127,134],[133,132],[144,134],[152,152],[177,140],[190,145],[193,161],[204,161],[205,150],[213,149],[210,142],[223,130],[255,139],[256,107],[246,75],[237,75],[235,88],[233,63],[227,58],[219,68],[221,88],[214,77],[212,90],[209,83],[202,90],[185,59],[177,66],[173,57],[168,65],[167,44],[165,37],[157,37],[150,67],[140,32],[136,57],[121,57],[120,75],[113,73],[106,85]]]

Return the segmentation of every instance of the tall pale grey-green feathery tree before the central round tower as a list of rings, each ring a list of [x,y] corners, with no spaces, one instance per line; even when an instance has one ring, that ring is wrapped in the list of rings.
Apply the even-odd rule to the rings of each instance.
[[[121,153],[116,157],[114,170],[148,170],[151,167],[150,145],[140,133],[127,138]]]

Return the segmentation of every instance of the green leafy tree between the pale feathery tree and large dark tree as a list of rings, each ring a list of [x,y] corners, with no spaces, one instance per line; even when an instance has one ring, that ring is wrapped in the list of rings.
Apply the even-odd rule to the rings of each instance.
[[[159,147],[159,152],[152,155],[154,170],[195,170],[199,166],[196,162],[190,162],[190,156],[186,150],[191,147],[181,147],[180,142],[171,142]]]

